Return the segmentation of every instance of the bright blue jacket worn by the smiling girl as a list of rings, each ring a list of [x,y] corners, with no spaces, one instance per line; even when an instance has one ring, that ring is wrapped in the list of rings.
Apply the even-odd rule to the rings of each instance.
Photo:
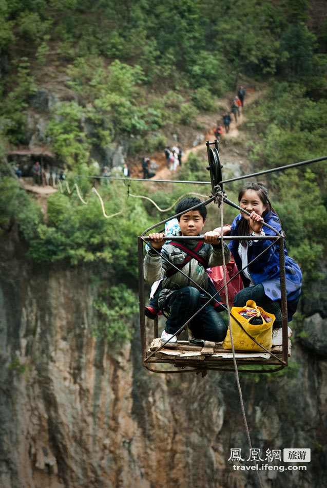
[[[237,229],[241,221],[241,214],[235,217],[232,228],[230,229],[230,235],[237,235]],[[281,231],[279,218],[273,212],[268,213],[264,217],[264,221],[278,232]],[[273,230],[268,229],[263,225],[263,230],[266,235],[276,235]],[[229,243],[229,249],[234,256],[238,269],[242,269],[242,260],[238,253],[239,240],[232,240]],[[258,256],[264,249],[268,248],[272,240],[257,240],[248,241],[247,247],[247,262],[252,261]],[[279,253],[278,245],[274,245],[266,251],[262,256],[256,259],[252,265],[248,267],[248,271],[256,285],[262,283],[264,293],[266,296],[276,301],[281,298],[280,294],[280,273],[279,273]],[[292,319],[293,314],[296,311],[297,304],[299,302],[302,286],[302,273],[297,262],[287,254],[285,247],[285,274],[286,274],[286,296],[287,296],[287,315],[288,320]],[[244,286],[249,286],[249,280],[241,273]]]

